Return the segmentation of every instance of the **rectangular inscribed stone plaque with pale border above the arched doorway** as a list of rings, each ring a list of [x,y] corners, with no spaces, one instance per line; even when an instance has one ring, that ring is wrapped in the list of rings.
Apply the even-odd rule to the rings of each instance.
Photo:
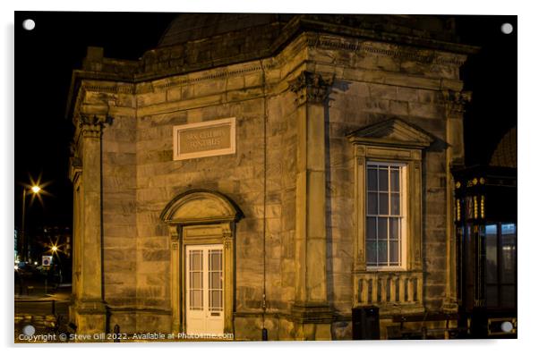
[[[235,154],[235,117],[174,127],[174,160]]]

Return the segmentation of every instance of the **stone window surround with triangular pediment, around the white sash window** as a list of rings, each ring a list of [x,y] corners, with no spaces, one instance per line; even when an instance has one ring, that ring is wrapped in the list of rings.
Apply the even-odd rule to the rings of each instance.
[[[372,123],[347,134],[355,158],[355,240],[353,274],[367,270],[365,261],[366,170],[369,161],[406,164],[406,262],[398,269],[422,272],[424,149],[435,141],[431,133],[398,117]],[[376,273],[380,268],[373,269]],[[357,291],[357,290],[356,290]]]

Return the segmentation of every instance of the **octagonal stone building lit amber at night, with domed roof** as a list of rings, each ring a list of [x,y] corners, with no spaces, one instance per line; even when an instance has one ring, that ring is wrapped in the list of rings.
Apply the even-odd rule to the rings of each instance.
[[[457,311],[459,68],[433,16],[181,14],[73,71],[78,333],[351,339]],[[434,325],[432,325],[434,326]]]

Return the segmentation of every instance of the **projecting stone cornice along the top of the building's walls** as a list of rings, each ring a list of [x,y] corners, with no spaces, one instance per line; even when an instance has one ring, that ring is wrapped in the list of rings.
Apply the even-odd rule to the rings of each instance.
[[[308,22],[308,21],[307,21]],[[400,60],[417,61],[420,63],[433,63],[440,65],[461,65],[466,60],[466,54],[475,53],[476,48],[473,46],[463,46],[458,44],[445,43],[444,46],[415,46],[415,43],[410,40],[396,43],[395,41],[384,40],[380,41],[377,38],[366,35],[354,35],[353,33],[340,33],[335,31],[316,31],[316,26],[305,26],[305,19],[298,18],[296,21],[291,21],[285,29],[283,29],[281,38],[277,38],[274,45],[270,46],[267,50],[257,53],[252,56],[240,55],[239,57],[230,57],[225,61],[216,63],[210,61],[208,63],[196,63],[196,65],[190,67],[188,65],[171,65],[163,72],[137,72],[133,70],[132,74],[125,72],[90,72],[85,70],[74,70],[72,76],[72,84],[68,97],[68,105],[66,107],[66,117],[70,116],[73,110],[73,101],[75,100],[76,93],[81,87],[82,80],[101,80],[110,82],[122,82],[125,84],[137,84],[142,82],[148,82],[151,80],[160,80],[178,75],[185,75],[191,72],[202,72],[216,67],[227,68],[227,66],[237,65],[246,62],[254,62],[260,58],[272,58],[275,59],[273,63],[267,63],[263,69],[272,69],[281,66],[281,61],[278,60],[279,55],[287,50],[287,48],[295,43],[296,40],[304,38],[305,46],[321,47],[327,49],[341,49],[354,51],[361,55],[383,55]],[[295,30],[294,30],[295,29]],[[346,32],[346,31],[345,31]],[[409,39],[409,38],[408,38]],[[432,41],[432,40],[430,40]],[[381,47],[377,43],[386,42],[392,47]],[[436,42],[436,41],[434,41]],[[297,43],[297,42],[296,42]],[[438,42],[436,42],[438,43]],[[440,42],[441,43],[441,42]],[[453,45],[453,46],[449,46]],[[164,49],[162,49],[164,50]],[[451,52],[453,51],[453,52]],[[108,58],[104,58],[107,60]],[[265,59],[266,60],[266,59]],[[122,65],[121,60],[109,61],[117,65]],[[135,68],[133,61],[126,61],[127,65]],[[139,67],[143,63],[139,62]],[[114,65],[113,65],[114,66]],[[214,80],[218,78],[233,77],[236,75],[244,75],[248,72],[259,72],[262,70],[260,64],[252,63],[251,66],[240,68],[233,71],[223,70],[223,72],[212,72],[207,75],[201,75],[197,78],[184,78],[175,82],[165,83],[157,85],[158,89],[167,89],[176,85],[183,85],[192,82],[199,82],[201,80]],[[107,85],[86,85],[86,89],[90,91],[102,91],[110,93],[124,93],[134,94],[136,93],[136,87],[131,86],[107,86]]]

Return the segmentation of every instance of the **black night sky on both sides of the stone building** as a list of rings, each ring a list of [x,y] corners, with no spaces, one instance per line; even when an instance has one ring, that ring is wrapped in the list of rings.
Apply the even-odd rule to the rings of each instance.
[[[21,223],[21,183],[49,182],[43,205],[27,205],[26,229],[72,224],[67,176],[72,123],[64,118],[71,72],[87,46],[113,58],[137,59],[158,43],[173,13],[15,13],[15,225]],[[25,19],[36,28],[23,30]],[[510,35],[500,25],[513,24]],[[462,69],[473,104],[465,115],[466,165],[488,163],[504,132],[517,124],[517,17],[458,16],[462,43],[481,46]],[[28,200],[30,202],[30,199]]]

